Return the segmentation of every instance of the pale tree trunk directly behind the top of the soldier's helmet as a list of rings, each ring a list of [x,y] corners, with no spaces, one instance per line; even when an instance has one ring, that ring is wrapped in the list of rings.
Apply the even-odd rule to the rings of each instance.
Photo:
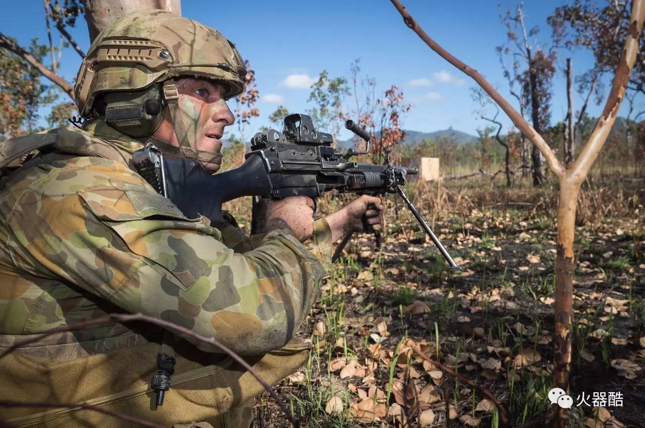
[[[181,0],[86,0],[85,19],[90,41],[115,19],[142,9],[161,9],[181,16]]]

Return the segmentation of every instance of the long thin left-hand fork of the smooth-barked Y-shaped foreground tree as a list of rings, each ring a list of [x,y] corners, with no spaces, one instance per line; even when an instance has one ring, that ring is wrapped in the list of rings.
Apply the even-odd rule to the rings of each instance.
[[[404,23],[413,30],[413,32],[417,33],[419,37],[421,37],[421,40],[426,42],[426,44],[432,49],[433,51],[437,52],[443,59],[447,60],[452,64],[453,66],[459,68],[463,73],[466,75],[470,76],[479,86],[490,95],[497,104],[499,104],[500,107],[502,107],[502,110],[508,115],[508,117],[511,119],[513,124],[517,126],[517,128],[524,134],[526,137],[531,140],[531,142],[542,152],[544,155],[544,158],[546,158],[546,162],[548,162],[549,167],[551,171],[557,176],[562,176],[564,174],[564,165],[555,157],[555,154],[551,150],[551,147],[544,141],[544,138],[542,138],[541,135],[539,135],[537,132],[535,132],[535,129],[533,129],[528,122],[519,114],[517,111],[502,97],[499,95],[497,91],[495,91],[495,88],[491,86],[490,83],[484,77],[482,77],[481,74],[477,72],[477,70],[474,70],[473,68],[470,68],[467,64],[464,64],[461,60],[457,59],[454,57],[450,52],[446,51],[444,48],[439,46],[437,42],[435,42],[433,39],[424,32],[424,30],[419,26],[412,15],[408,13],[406,8],[401,5],[401,1],[399,0],[390,0],[392,1],[392,4],[397,8],[401,16],[403,17]]]

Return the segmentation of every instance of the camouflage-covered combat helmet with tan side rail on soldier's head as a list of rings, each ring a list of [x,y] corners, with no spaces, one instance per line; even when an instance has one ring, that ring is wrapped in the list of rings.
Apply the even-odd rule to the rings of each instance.
[[[161,10],[116,19],[92,42],[76,78],[79,112],[89,117],[100,93],[141,91],[178,76],[222,82],[226,98],[244,90],[246,69],[235,45],[216,30]]]

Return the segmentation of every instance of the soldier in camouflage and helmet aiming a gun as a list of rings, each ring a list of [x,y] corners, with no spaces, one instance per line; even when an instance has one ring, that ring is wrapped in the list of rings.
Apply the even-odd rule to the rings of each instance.
[[[127,15],[95,39],[75,86],[82,129],[5,142],[5,158],[16,147],[31,153],[1,183],[0,353],[52,328],[140,312],[215,337],[269,384],[301,367],[309,348],[292,338],[319,295],[332,243],[362,231],[363,217],[379,228],[379,198],[315,223],[312,200],[286,198],[270,205],[269,232],[248,239],[230,216],[221,228],[186,218],[131,162],[154,142],[216,172],[233,123],[226,100],[245,75],[232,42],[166,12]],[[165,426],[248,427],[263,387],[191,340],[116,322],[62,331],[0,360],[0,398],[87,402]],[[163,405],[150,384],[158,354],[175,361]],[[16,426],[127,424],[79,407],[1,414]]]

